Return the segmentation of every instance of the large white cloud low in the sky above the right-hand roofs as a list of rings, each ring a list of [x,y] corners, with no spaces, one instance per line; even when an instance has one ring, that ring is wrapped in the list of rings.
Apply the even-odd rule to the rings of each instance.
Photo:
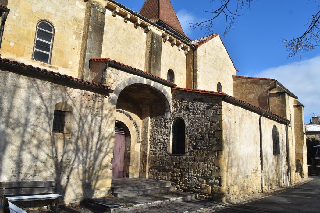
[[[320,116],[320,56],[256,73],[257,77],[274,78],[287,87],[305,106],[305,122],[315,113]]]

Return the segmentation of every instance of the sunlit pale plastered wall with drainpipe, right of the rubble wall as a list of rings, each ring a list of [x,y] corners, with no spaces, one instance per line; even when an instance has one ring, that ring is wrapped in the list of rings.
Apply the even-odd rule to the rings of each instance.
[[[259,115],[223,102],[223,191],[227,199],[261,192]],[[272,128],[276,125],[280,155],[273,155]],[[285,125],[262,118],[264,189],[282,186],[285,166]]]

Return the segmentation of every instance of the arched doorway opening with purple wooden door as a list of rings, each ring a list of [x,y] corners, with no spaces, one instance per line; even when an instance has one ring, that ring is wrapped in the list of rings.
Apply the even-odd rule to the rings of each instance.
[[[128,128],[119,121],[115,123],[115,142],[113,146],[112,178],[123,178],[128,171],[126,166],[126,147],[130,147],[131,137]]]

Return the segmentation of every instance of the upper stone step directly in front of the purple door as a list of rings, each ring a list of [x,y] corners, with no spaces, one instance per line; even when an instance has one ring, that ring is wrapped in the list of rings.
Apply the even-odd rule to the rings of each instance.
[[[133,191],[140,189],[150,189],[150,188],[161,188],[171,186],[170,181],[157,181],[156,183],[139,183],[139,184],[128,184],[128,185],[111,185],[112,193],[124,192],[124,191]]]

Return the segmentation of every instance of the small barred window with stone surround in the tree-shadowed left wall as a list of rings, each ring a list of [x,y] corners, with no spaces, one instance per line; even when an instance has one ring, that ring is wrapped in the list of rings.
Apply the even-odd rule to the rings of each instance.
[[[62,133],[70,138],[72,106],[66,102],[57,103],[54,107],[52,133]]]

